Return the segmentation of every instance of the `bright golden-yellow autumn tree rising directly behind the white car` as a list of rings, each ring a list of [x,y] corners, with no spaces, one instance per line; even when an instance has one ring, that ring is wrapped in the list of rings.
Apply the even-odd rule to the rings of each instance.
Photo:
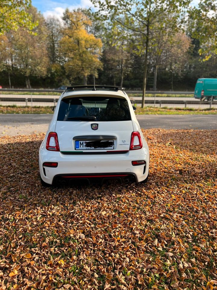
[[[87,32],[91,21],[82,11],[66,9],[63,20],[60,50],[65,59],[66,73],[71,80],[79,76],[87,84],[88,76],[97,76],[97,70],[102,68],[99,60],[102,42]]]

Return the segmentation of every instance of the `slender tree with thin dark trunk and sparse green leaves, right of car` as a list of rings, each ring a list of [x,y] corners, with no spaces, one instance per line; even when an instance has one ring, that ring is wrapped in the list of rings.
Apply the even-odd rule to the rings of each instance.
[[[104,18],[110,19],[113,25],[120,30],[130,31],[138,55],[144,56],[144,72],[142,85],[142,107],[145,102],[145,89],[148,72],[148,57],[150,42],[154,42],[159,31],[167,31],[170,28],[176,31],[182,11],[190,0],[107,0],[92,2],[99,6],[99,13],[104,13]],[[170,15],[170,17],[168,17]],[[126,33],[126,38],[129,35]]]

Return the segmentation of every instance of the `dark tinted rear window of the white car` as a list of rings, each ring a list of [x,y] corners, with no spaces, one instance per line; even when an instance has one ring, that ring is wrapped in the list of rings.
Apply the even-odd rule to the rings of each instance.
[[[126,99],[106,97],[64,98],[57,121],[130,121]],[[89,118],[89,119],[88,119]]]

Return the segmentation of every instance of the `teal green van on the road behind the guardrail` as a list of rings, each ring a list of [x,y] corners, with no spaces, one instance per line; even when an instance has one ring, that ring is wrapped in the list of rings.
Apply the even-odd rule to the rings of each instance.
[[[198,79],[196,82],[194,97],[204,101],[217,99],[217,79]]]

